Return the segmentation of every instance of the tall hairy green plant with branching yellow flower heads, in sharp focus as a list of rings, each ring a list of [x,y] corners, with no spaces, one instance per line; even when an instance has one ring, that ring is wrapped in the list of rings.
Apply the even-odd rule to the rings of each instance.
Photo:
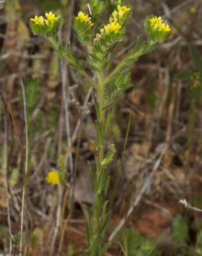
[[[116,45],[126,35],[126,26],[131,16],[131,8],[124,1],[90,1],[91,16],[78,12],[73,18],[73,30],[80,44],[85,48],[86,61],[82,63],[75,57],[71,46],[64,50],[57,37],[62,24],[59,15],[52,12],[45,17],[30,19],[33,33],[42,35],[46,41],[72,66],[84,84],[93,88],[93,100],[96,111],[95,127],[98,148],[95,152],[95,167],[91,167],[94,188],[93,208],[87,209],[89,218],[86,221],[86,233],[89,243],[89,256],[102,256],[109,247],[104,244],[104,234],[109,220],[107,192],[109,188],[109,172],[107,167],[113,161],[116,149],[113,144],[107,145],[106,135],[111,118],[111,106],[118,95],[131,87],[129,65],[138,58],[154,50],[170,33],[170,28],[161,17],[149,16],[145,21],[147,39],[140,42],[123,57],[120,63],[113,66],[113,59],[118,55]],[[110,10],[107,24],[100,22],[100,15]],[[86,72],[91,70],[91,75]],[[92,77],[96,77],[94,80]],[[52,176],[51,176],[52,175]],[[55,181],[55,173],[48,176],[48,181]],[[59,181],[57,179],[57,181]]]

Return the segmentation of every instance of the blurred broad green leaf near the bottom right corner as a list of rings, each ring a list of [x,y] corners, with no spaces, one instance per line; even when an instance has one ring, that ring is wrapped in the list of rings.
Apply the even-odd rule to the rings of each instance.
[[[189,227],[181,215],[175,217],[171,233],[176,243],[186,244],[190,240]]]

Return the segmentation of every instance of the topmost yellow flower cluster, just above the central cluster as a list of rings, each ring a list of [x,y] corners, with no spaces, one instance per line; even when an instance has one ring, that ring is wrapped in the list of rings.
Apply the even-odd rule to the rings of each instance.
[[[129,8],[127,6],[120,6],[120,4],[118,4],[118,6],[116,6],[116,8],[117,8],[117,10],[114,10],[112,12],[109,21],[110,22],[116,21],[122,25],[128,19],[131,8]]]

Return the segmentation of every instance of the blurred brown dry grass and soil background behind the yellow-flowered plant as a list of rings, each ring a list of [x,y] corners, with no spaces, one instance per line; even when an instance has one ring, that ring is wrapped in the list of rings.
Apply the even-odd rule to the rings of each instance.
[[[3,1],[1,3],[2,253],[8,251],[8,201],[13,255],[19,252],[21,193],[25,182],[22,165],[24,102],[20,77],[26,92],[29,131],[28,211],[24,228],[24,236],[29,232],[30,237],[28,255],[51,255],[51,252],[55,252],[54,255],[80,255],[86,248],[83,204],[93,203],[87,162],[93,162],[96,149],[91,90],[80,84],[75,72],[62,64],[57,53],[41,37],[30,33],[29,19],[50,10],[61,13],[64,26],[59,36],[64,43],[69,37],[75,55],[84,60],[84,49],[71,33],[71,19],[79,10],[87,11],[87,3],[87,0],[6,0],[4,5]],[[145,38],[147,15],[164,17],[172,28],[172,35],[154,52],[131,66],[134,87],[118,98],[113,107],[108,140],[116,145],[117,154],[109,170],[109,200],[112,202],[109,235],[134,205],[124,229],[136,230],[139,235],[155,241],[161,253],[158,255],[195,255],[187,253],[198,241],[202,214],[187,210],[179,200],[187,199],[190,205],[202,209],[202,2],[131,0],[127,3],[133,11],[127,37],[119,46],[119,60],[134,46],[137,36]],[[115,60],[115,64],[119,60]],[[65,84],[62,80],[64,73]],[[68,111],[65,111],[66,104]],[[5,116],[8,120],[6,129]],[[129,117],[129,138],[124,147]],[[8,138],[7,174],[3,161],[5,137]],[[48,171],[57,170],[59,158],[66,163],[70,176],[70,154],[71,168],[75,171],[73,205],[68,189],[71,184],[67,182],[66,190],[62,192],[59,186],[48,185],[45,181]],[[61,202],[63,220],[68,223],[63,235],[61,230],[55,233]],[[179,245],[178,241],[182,243]],[[118,241],[107,255],[124,255]]]

